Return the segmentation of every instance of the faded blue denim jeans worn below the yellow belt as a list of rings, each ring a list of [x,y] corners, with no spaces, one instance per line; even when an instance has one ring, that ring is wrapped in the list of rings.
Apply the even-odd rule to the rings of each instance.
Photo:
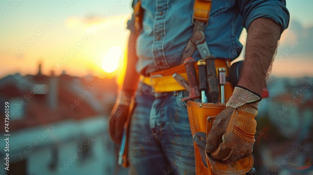
[[[194,146],[186,102],[187,91],[153,93],[140,83],[131,118],[130,175],[193,175]]]

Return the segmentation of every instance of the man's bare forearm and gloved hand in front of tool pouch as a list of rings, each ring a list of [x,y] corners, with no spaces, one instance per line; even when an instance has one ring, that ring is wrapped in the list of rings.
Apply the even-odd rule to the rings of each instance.
[[[211,158],[226,162],[239,161],[252,153],[259,94],[270,72],[281,27],[270,19],[258,18],[247,31],[240,87],[235,88],[227,108],[216,117],[206,145]]]

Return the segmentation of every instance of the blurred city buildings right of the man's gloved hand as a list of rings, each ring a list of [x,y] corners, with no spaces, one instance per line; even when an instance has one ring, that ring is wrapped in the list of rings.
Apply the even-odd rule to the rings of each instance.
[[[270,133],[258,149],[259,174],[313,174],[313,78],[277,78],[267,82],[269,98],[260,103],[257,122],[267,118]]]

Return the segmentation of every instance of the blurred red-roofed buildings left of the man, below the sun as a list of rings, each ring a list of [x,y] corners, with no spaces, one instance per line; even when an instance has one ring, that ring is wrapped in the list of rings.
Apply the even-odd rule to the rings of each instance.
[[[46,76],[40,65],[37,75],[2,78],[0,103],[10,105],[9,132],[3,134],[10,136],[9,151],[0,151],[1,160],[9,153],[9,171],[1,163],[0,173],[113,174],[107,115],[117,88],[115,79],[104,77]]]

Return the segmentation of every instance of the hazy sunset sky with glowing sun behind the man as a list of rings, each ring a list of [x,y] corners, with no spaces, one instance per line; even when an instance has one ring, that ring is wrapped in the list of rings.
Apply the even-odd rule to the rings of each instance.
[[[16,4],[14,4],[15,2]],[[119,76],[131,0],[0,1],[0,78],[35,74]],[[11,6],[11,7],[10,7]],[[287,0],[290,26],[283,33],[272,75],[313,76],[313,1]],[[246,32],[240,41],[245,43]],[[297,41],[298,40],[298,41]],[[296,47],[286,55],[294,43]],[[114,59],[109,59],[114,58]],[[279,59],[280,58],[280,59]],[[279,60],[279,62],[277,61]],[[103,67],[102,63],[111,66]],[[112,73],[107,72],[116,71]]]

